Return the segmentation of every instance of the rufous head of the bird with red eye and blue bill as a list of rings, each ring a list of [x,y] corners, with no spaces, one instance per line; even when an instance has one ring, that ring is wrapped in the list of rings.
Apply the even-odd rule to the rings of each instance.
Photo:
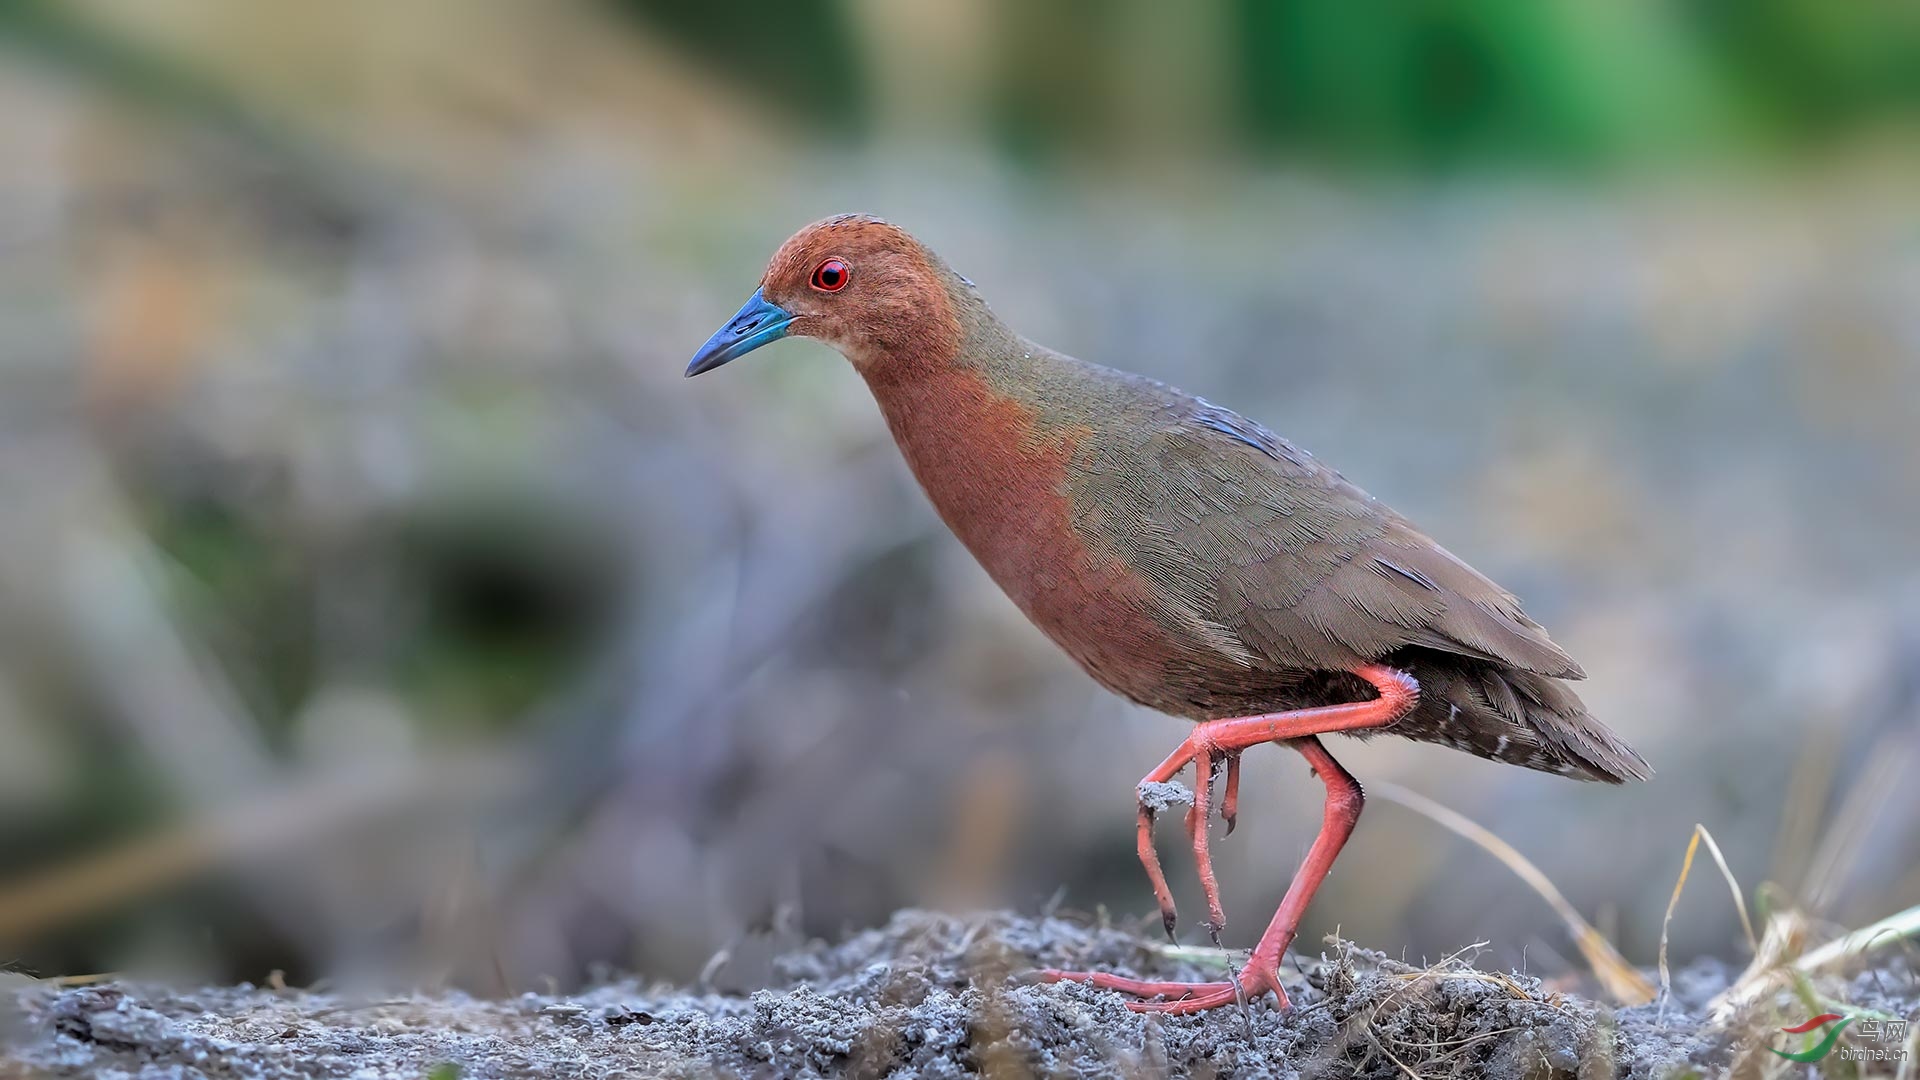
[[[826,342],[870,371],[889,361],[950,354],[954,273],[904,229],[843,213],[801,229],[774,252],[760,288],[693,354],[687,377],[768,342]]]

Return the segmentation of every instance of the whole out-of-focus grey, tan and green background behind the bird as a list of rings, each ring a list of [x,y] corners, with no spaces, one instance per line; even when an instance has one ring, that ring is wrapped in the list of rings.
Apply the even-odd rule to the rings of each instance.
[[[1893,0],[12,0],[0,959],[745,988],[906,903],[1150,913],[1181,724],[1021,621],[837,357],[680,379],[847,209],[1517,590],[1651,784],[1336,753],[1630,959],[1693,822],[1818,917],[1920,901],[1916,121]],[[1317,799],[1250,759],[1231,942]],[[1336,924],[1578,967],[1379,799]],[[1695,882],[1676,955],[1738,940]]]

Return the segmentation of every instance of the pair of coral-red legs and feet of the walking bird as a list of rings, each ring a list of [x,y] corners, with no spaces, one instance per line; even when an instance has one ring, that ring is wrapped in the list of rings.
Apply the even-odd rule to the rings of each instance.
[[[1386,726],[1411,713],[1419,703],[1419,684],[1413,676],[1402,671],[1382,665],[1365,665],[1356,669],[1356,675],[1371,682],[1373,688],[1379,690],[1379,698],[1346,705],[1298,709],[1292,713],[1269,713],[1263,717],[1200,723],[1187,736],[1187,740],[1181,742],[1181,748],[1175,749],[1173,755],[1162,761],[1158,769],[1140,780],[1142,784],[1165,782],[1173,778],[1173,774],[1177,774],[1188,761],[1200,759],[1204,771],[1194,792],[1194,805],[1196,809],[1202,809],[1208,799],[1202,792],[1212,788],[1212,761],[1217,753],[1238,755],[1238,751],[1261,742],[1286,742],[1308,759],[1308,765],[1313,767],[1313,773],[1319,774],[1321,782],[1327,786],[1327,807],[1321,819],[1321,832],[1313,840],[1313,847],[1308,849],[1308,857],[1300,865],[1300,871],[1294,872],[1294,882],[1286,888],[1286,896],[1281,899],[1279,911],[1273,913],[1273,920],[1267,924],[1265,934],[1260,936],[1260,944],[1254,945],[1254,955],[1236,982],[1169,984],[1064,970],[1044,970],[1041,972],[1041,978],[1048,982],[1069,978],[1089,980],[1096,986],[1137,994],[1140,997],[1173,997],[1179,994],[1173,1001],[1127,1003],[1129,1009],[1146,1013],[1198,1013],[1202,1009],[1231,1005],[1269,990],[1281,999],[1281,1007],[1286,1007],[1286,992],[1281,988],[1281,957],[1286,955],[1286,947],[1300,930],[1300,917],[1306,913],[1313,894],[1327,878],[1327,871],[1332,869],[1332,861],[1340,855],[1340,847],[1344,847],[1348,836],[1354,834],[1354,824],[1359,821],[1359,809],[1365,803],[1359,782],[1354,780],[1354,776],[1342,769],[1331,753],[1327,753],[1327,748],[1321,746],[1315,736]],[[1233,767],[1229,765],[1229,769]],[[1233,780],[1235,776],[1229,774],[1227,798],[1236,801],[1238,792],[1235,790]],[[1200,857],[1204,842],[1198,838],[1206,836],[1204,813],[1200,813],[1194,821],[1202,824],[1196,828],[1194,842],[1194,855]],[[1144,801],[1140,805],[1140,861],[1146,863],[1148,878],[1154,884],[1154,896],[1160,897],[1162,919],[1167,920],[1171,930],[1173,901],[1165,886],[1165,876],[1160,872],[1160,857],[1152,849],[1152,809],[1146,807]],[[1202,884],[1210,884],[1208,878],[1212,878],[1212,861],[1202,865]],[[1210,911],[1210,915],[1213,913]],[[1217,915],[1213,917],[1217,919]]]

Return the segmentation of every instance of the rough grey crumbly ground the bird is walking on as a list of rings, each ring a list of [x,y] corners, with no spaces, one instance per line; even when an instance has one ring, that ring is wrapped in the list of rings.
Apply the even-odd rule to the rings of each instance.
[[[778,988],[751,995],[632,980],[503,1001],[33,984],[13,994],[0,1076],[1590,1078],[1761,1065],[1741,1030],[1703,1022],[1726,986],[1718,965],[1678,972],[1665,1009],[1611,1009],[1532,976],[1457,959],[1419,969],[1329,942],[1321,959],[1296,963],[1288,1013],[1258,1001],[1171,1019],[1129,1013],[1087,986],[1021,978],[1039,965],[1215,978],[1219,963],[1210,949],[1091,920],[906,911],[776,959]],[[1839,990],[1901,1017],[1920,1003],[1905,967]]]

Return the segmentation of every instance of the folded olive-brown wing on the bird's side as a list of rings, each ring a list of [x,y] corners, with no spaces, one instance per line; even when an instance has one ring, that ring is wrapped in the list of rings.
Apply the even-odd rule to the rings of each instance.
[[[1269,663],[1344,667],[1407,646],[1582,678],[1519,601],[1309,454],[1206,402],[1137,448],[1144,573]]]

